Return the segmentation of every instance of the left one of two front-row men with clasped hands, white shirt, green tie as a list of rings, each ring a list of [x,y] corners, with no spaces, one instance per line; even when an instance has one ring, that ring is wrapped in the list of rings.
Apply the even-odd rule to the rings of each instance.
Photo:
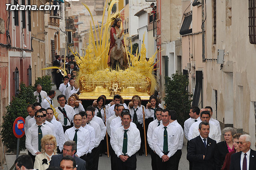
[[[122,124],[124,126],[116,129],[112,133],[110,140],[117,158],[118,170],[135,170],[136,169],[136,152],[140,149],[140,131],[130,126],[131,114],[129,112],[122,113]]]

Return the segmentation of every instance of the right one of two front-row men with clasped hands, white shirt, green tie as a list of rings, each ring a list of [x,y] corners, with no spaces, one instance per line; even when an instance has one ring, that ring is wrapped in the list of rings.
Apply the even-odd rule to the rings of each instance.
[[[178,150],[180,134],[176,127],[170,124],[170,111],[162,110],[162,124],[155,128],[152,136],[153,148],[158,156],[156,163],[158,170],[174,170],[176,159],[174,154]]]

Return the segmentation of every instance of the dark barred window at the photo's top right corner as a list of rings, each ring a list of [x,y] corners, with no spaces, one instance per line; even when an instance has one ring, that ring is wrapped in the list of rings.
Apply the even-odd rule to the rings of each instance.
[[[249,0],[249,40],[256,44],[256,0]]]

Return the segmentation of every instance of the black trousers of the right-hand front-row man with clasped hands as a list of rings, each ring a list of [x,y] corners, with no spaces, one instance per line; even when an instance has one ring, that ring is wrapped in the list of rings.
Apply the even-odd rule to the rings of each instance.
[[[157,155],[156,158],[157,170],[175,170],[176,158],[175,155],[171,156],[168,161],[163,162],[162,158]]]

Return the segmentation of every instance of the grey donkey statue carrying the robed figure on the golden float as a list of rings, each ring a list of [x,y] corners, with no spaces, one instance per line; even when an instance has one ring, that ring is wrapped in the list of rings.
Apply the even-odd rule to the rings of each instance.
[[[123,69],[124,66],[124,52],[122,50],[122,40],[124,39],[124,35],[122,35],[120,38],[116,37],[116,34],[114,35],[114,39],[116,40],[116,44],[111,50],[110,58],[111,58],[111,67],[112,69],[115,69],[117,64],[119,64],[120,69]]]

